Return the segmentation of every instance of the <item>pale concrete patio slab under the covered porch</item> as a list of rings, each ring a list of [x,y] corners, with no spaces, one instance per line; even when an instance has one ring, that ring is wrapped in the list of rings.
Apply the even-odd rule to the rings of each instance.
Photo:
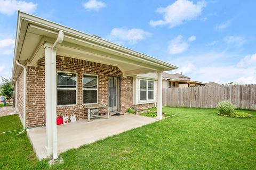
[[[58,152],[61,153],[71,148],[78,148],[82,145],[138,128],[155,121],[156,118],[124,114],[120,116],[110,116],[109,119],[96,119],[92,122],[80,120],[74,123],[58,125]],[[28,129],[27,133],[37,158],[39,160],[46,158],[45,128]]]

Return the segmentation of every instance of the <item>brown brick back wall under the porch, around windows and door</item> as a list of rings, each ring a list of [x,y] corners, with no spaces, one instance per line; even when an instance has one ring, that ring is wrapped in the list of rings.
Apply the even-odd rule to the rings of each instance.
[[[77,106],[57,107],[57,116],[76,114],[77,120],[85,118],[86,106],[82,105],[82,75],[84,73],[97,74],[98,105],[108,106],[108,76],[120,77],[120,111],[124,112],[132,107],[132,77],[123,78],[122,72],[116,66],[94,63],[75,58],[57,56],[57,71],[77,73]],[[45,124],[45,77],[44,58],[38,61],[37,67],[27,66],[27,127]],[[103,111],[104,112],[104,111]],[[105,111],[106,112],[106,111]]]

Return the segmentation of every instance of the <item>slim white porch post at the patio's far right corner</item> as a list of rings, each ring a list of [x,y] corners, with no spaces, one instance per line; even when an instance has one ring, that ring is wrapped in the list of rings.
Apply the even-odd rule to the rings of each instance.
[[[157,120],[162,120],[162,91],[163,91],[163,72],[157,72]]]

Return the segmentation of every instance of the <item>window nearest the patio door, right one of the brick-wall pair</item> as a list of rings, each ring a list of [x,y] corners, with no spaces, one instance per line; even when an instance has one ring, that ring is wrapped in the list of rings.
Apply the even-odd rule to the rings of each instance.
[[[83,104],[98,103],[98,75],[83,74]]]

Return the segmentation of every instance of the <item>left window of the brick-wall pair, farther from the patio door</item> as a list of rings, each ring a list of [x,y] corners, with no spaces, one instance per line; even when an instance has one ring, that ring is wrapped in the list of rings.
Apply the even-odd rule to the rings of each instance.
[[[77,74],[57,72],[57,105],[76,105]]]

